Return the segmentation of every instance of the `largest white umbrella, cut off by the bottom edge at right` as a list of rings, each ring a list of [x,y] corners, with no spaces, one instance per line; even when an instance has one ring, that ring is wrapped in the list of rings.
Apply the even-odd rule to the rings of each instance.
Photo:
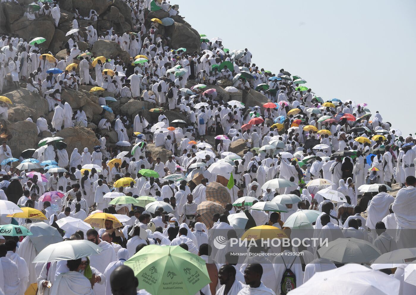
[[[400,281],[359,264],[315,273],[289,295],[399,295]]]

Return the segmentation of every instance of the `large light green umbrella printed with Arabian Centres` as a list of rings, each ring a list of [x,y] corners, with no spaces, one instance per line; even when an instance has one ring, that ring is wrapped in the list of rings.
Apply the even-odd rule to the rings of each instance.
[[[193,295],[211,282],[205,260],[180,246],[147,245],[124,265],[153,295]]]

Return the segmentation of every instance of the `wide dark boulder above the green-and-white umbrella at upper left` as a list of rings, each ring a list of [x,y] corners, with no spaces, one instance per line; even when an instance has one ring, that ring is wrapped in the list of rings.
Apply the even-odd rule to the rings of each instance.
[[[50,16],[28,20],[22,17],[10,25],[10,32],[24,38],[32,40],[35,37],[42,36],[46,39],[42,43],[43,48],[48,48],[55,32],[53,18]]]

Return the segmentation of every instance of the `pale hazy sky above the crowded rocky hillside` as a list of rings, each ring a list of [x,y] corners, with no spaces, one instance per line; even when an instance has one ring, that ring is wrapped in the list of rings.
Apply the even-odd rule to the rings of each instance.
[[[200,34],[252,62],[307,80],[324,100],[367,103],[403,135],[416,132],[416,1],[171,0]]]

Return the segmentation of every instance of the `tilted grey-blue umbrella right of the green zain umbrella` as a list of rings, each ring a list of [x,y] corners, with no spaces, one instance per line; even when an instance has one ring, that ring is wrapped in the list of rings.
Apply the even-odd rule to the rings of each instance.
[[[29,239],[38,253],[48,245],[62,242],[62,236],[58,230],[47,223],[26,223],[23,226],[32,233]]]

